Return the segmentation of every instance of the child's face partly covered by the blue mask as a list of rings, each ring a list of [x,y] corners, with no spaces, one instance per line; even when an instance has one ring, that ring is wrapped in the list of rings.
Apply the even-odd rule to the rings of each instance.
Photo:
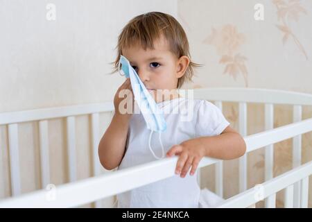
[[[184,75],[189,58],[182,56],[177,58],[170,50],[168,43],[161,37],[154,43],[155,49],[144,49],[139,44],[122,49],[122,54],[130,61],[130,65],[137,71],[139,78],[146,86],[146,89],[156,102],[167,100],[162,99],[159,93],[165,98],[177,96],[177,80]],[[182,63],[182,64],[181,64]],[[156,96],[157,89],[157,96]],[[168,89],[166,91],[159,89]],[[160,97],[160,98],[159,98]]]

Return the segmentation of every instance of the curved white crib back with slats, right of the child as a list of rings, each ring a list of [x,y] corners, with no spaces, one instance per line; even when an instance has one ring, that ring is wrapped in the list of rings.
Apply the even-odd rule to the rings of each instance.
[[[302,120],[302,105],[312,105],[312,95],[300,92],[288,92],[276,89],[257,88],[211,88],[196,89],[194,97],[198,99],[209,99],[216,101],[216,105],[222,110],[222,102],[239,103],[239,133],[247,135],[247,103],[265,104],[265,130],[273,128],[274,105],[293,105],[293,122]],[[293,167],[299,167],[302,153],[302,137],[297,135],[293,138]],[[270,144],[265,148],[265,179],[273,178],[274,146]],[[218,162],[215,169],[216,194],[223,196],[223,162]],[[247,155],[239,159],[239,191],[247,189]],[[300,206],[300,182],[295,184],[295,207]],[[268,198],[270,201],[270,198]],[[266,206],[268,207],[266,200]]]

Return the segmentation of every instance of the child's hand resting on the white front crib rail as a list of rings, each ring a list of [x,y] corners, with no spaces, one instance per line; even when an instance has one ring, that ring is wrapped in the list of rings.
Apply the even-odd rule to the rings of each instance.
[[[189,139],[180,145],[175,145],[167,152],[166,156],[180,155],[177,160],[175,174],[180,174],[184,178],[192,167],[190,175],[195,173],[198,163],[205,156],[205,148],[200,144],[198,139]]]

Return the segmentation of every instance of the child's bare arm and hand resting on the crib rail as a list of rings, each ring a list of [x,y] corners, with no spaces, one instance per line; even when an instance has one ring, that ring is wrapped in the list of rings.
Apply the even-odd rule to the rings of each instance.
[[[180,145],[173,146],[167,152],[167,157],[180,155],[175,173],[184,177],[190,167],[192,167],[190,175],[195,173],[198,163],[204,156],[231,160],[241,157],[245,151],[246,144],[243,137],[227,126],[220,135],[189,139]]]

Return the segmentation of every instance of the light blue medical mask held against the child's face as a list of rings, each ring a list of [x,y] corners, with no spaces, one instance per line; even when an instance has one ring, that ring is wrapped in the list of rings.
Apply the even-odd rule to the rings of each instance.
[[[121,74],[120,72],[121,71],[120,65],[123,74]],[[164,119],[164,113],[162,112],[162,110],[159,109],[157,103],[155,102],[153,97],[146,89],[144,83],[142,83],[141,79],[137,75],[137,72],[130,65],[130,62],[122,55],[120,56],[118,68],[119,74],[125,76],[125,78],[130,78],[130,83],[132,86],[132,92],[135,96],[135,101],[137,102],[137,105],[139,106],[139,109],[143,114],[147,128],[151,130],[150,137],[148,139],[148,146],[150,148],[150,152],[156,159],[161,159],[164,157],[164,146],[162,146],[161,133],[167,128],[166,121]],[[154,131],[159,133],[159,142],[162,146],[162,157],[157,157],[157,155],[155,155],[153,149],[150,146],[150,140],[152,138],[152,134]]]

